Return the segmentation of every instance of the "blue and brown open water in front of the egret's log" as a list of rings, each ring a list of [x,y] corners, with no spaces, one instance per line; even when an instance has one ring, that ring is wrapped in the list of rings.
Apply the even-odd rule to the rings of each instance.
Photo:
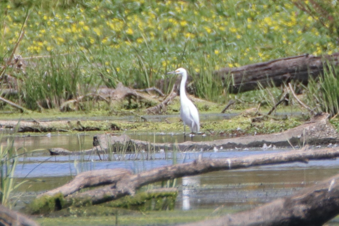
[[[218,152],[180,152],[177,163],[199,158],[241,157],[285,150],[221,150]],[[99,161],[96,155],[21,157],[15,177],[29,182],[19,191],[43,192],[63,185],[82,171],[125,168],[135,173],[172,165],[172,153],[154,153],[154,160]],[[128,156],[128,154],[126,155]],[[134,155],[135,156],[135,155]],[[118,155],[116,155],[118,157]],[[140,154],[139,157],[142,157]],[[84,159],[84,160],[82,160]],[[211,172],[177,180],[180,194],[176,208],[217,208],[222,205],[245,208],[290,195],[305,186],[339,172],[339,159],[305,163],[258,166],[248,169]]]

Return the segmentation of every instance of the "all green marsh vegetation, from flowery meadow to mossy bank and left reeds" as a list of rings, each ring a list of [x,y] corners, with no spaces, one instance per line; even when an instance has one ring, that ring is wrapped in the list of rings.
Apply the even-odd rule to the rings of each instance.
[[[235,104],[227,113],[255,109],[232,119],[203,121],[205,134],[281,132],[311,115],[292,94],[274,113],[302,112],[297,117],[256,113],[265,114],[292,92],[288,84],[278,88],[259,84],[258,90],[231,94],[226,87],[232,76],[221,81],[213,73],[302,54],[337,53],[338,12],[337,1],[320,0],[1,1],[0,118],[38,124],[58,117],[75,119],[66,126],[53,125],[53,131],[97,127],[100,131],[153,133],[154,137],[163,131],[182,131],[178,120],[152,122],[141,116],[171,93],[176,78],[165,73],[183,67],[191,76],[187,91],[201,115],[220,113],[230,100]],[[323,76],[310,78],[308,84],[292,81],[291,86],[312,112],[330,113],[338,130],[339,69],[337,64],[324,65]],[[102,88],[115,89],[119,83],[136,90],[155,87],[165,96],[155,92],[147,94],[152,101],[115,101],[98,93]],[[64,108],[71,100],[73,106]],[[162,113],[178,114],[179,109],[174,98]],[[133,116],[134,120],[78,123],[79,117],[93,116]],[[14,126],[11,133],[17,129]],[[17,152],[14,137],[5,140],[0,147],[0,199],[11,206],[10,193],[20,185],[14,183],[13,173],[26,150]]]

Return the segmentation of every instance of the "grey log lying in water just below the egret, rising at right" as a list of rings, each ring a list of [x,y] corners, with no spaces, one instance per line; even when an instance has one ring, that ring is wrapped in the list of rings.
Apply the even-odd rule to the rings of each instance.
[[[304,144],[326,144],[336,143],[339,136],[334,126],[328,121],[329,114],[320,113],[314,116],[310,121],[295,128],[273,134],[263,134],[254,136],[244,136],[228,139],[220,139],[209,142],[183,142],[176,144],[175,147],[170,143],[153,143],[143,140],[131,139],[126,135],[114,136],[110,134],[101,134],[93,137],[93,146],[98,150],[108,151],[121,149],[126,151],[135,150],[173,150],[178,148],[180,151],[188,150],[213,150],[214,148],[230,149],[245,147],[262,147],[266,145],[289,146]]]

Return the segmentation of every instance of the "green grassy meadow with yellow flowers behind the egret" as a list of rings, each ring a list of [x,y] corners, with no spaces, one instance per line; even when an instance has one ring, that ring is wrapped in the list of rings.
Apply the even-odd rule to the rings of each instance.
[[[155,86],[179,66],[200,73],[193,76],[198,97],[225,103],[232,96],[214,70],[338,52],[334,33],[287,0],[7,0],[0,8],[1,65],[15,49],[29,8],[15,49],[24,71],[7,67],[5,74],[22,93],[14,101],[32,110],[60,107],[102,84]],[[79,110],[95,108],[88,101]]]

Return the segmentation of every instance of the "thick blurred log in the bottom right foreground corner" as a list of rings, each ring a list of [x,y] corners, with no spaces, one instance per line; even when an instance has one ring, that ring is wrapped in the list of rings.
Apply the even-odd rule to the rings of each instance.
[[[339,174],[252,210],[180,226],[319,226],[339,214]]]

